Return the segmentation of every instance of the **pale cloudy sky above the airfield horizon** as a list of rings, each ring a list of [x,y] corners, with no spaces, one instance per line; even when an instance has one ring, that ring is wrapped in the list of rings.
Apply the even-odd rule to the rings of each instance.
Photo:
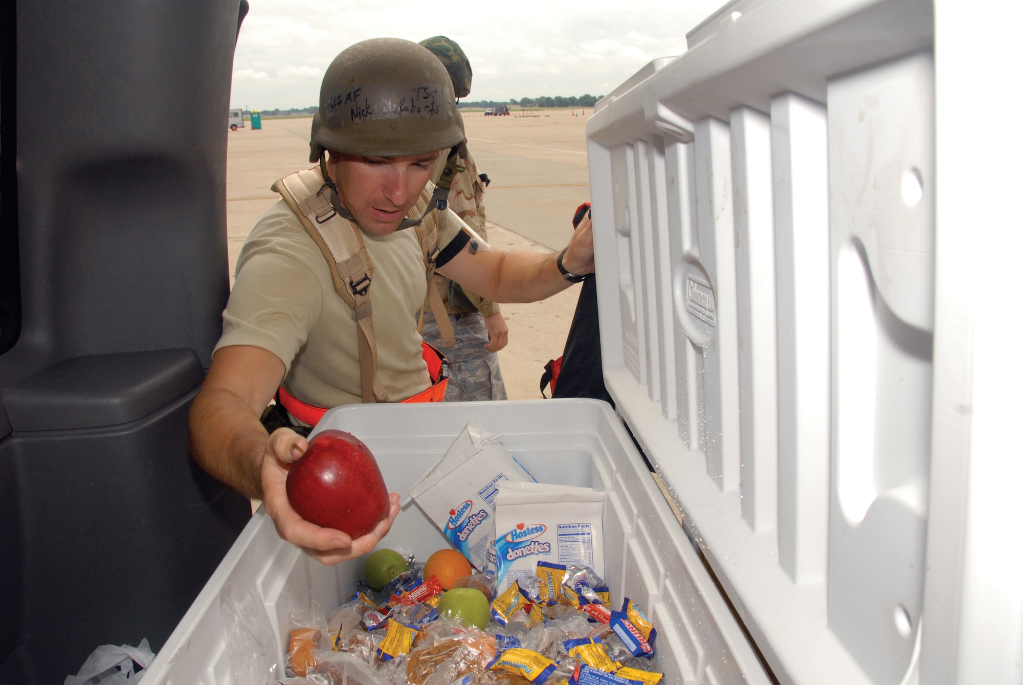
[[[250,0],[234,55],[231,106],[308,107],[323,70],[367,38],[448,36],[473,64],[469,100],[604,95],[724,0]]]

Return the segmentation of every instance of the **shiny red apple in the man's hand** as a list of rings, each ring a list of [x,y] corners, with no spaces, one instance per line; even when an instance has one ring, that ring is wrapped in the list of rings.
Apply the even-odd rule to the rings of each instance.
[[[310,523],[358,538],[387,518],[387,486],[372,452],[344,430],[322,430],[287,472],[287,499]]]

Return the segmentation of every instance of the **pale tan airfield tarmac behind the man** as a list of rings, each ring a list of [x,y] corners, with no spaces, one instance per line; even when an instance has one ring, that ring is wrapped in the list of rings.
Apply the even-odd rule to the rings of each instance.
[[[585,111],[585,116],[582,112]],[[572,234],[575,209],[589,199],[585,110],[554,109],[527,116],[463,112],[469,148],[491,184],[484,195],[488,238],[505,249],[550,253]],[[277,200],[270,185],[308,168],[310,118],[271,119],[263,129],[228,132],[227,242],[234,263],[249,231]],[[498,353],[509,400],[540,397],[547,360],[562,354],[579,287],[529,305],[501,305],[508,345]]]

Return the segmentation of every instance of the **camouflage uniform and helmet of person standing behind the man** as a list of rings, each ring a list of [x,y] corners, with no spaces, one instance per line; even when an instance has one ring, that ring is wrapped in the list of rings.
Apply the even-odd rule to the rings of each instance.
[[[419,43],[441,60],[451,77],[456,97],[469,95],[473,80],[473,68],[458,44],[435,36]],[[459,162],[461,164],[461,162]],[[460,171],[451,183],[448,207],[462,221],[473,227],[484,240],[487,239],[487,220],[483,207],[483,182],[476,169],[473,155],[464,161],[465,169]],[[440,166],[434,170],[435,182],[440,176]],[[463,289],[454,281],[440,275],[434,276],[441,296],[447,307],[447,314],[454,328],[454,347],[446,348],[441,340],[440,330],[433,313],[427,307],[424,315],[422,339],[444,353],[451,371],[447,393],[448,402],[471,400],[506,400],[504,379],[497,363],[497,353],[483,346],[490,341],[483,317],[500,313],[497,303],[485,300],[475,292]]]

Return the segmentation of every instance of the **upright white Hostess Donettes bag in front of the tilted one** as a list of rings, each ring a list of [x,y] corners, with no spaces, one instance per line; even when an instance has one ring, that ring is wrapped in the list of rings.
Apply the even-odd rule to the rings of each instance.
[[[588,566],[603,575],[604,498],[591,488],[501,483],[495,515],[497,591],[514,581],[535,581],[539,561]]]

